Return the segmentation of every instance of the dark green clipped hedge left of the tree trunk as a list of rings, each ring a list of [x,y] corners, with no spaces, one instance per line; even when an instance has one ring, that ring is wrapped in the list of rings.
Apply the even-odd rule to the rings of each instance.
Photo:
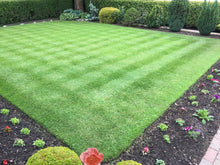
[[[0,24],[57,18],[72,0],[1,0]]]

